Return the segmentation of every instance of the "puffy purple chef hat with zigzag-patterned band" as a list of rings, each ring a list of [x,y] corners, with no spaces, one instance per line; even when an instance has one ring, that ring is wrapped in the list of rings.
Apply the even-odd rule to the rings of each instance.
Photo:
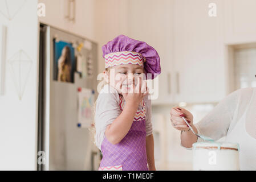
[[[125,36],[125,35],[119,35],[115,39],[105,44],[102,47],[102,51],[103,51],[103,58],[105,59],[106,68],[110,66],[109,65],[110,61],[112,61],[113,59],[115,59],[115,61],[117,59],[123,59],[124,56],[121,58],[119,56],[125,53],[126,54],[128,53],[129,55],[133,56],[133,59],[137,59],[136,63],[138,63],[139,65],[141,63],[141,60],[144,60],[142,64],[144,66],[146,76],[147,76],[147,73],[151,73],[152,79],[153,79],[161,73],[159,54],[156,52],[156,49],[149,46],[145,42],[128,38],[128,36]],[[141,57],[143,59],[141,59]],[[109,61],[109,59],[111,60]],[[131,62],[129,62],[129,64],[130,63]],[[122,64],[125,64],[124,61]],[[135,64],[135,63],[131,63],[131,64]],[[114,65],[117,65],[117,64],[114,64]]]

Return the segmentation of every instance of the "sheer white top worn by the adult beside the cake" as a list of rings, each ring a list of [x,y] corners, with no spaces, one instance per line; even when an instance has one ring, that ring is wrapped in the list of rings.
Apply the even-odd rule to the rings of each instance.
[[[229,94],[195,126],[201,135],[238,143],[240,169],[256,170],[256,88]]]

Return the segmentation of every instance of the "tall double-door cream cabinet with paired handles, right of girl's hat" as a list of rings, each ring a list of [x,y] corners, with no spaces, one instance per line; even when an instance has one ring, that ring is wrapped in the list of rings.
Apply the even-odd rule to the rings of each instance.
[[[147,6],[144,6],[147,3]],[[218,102],[226,96],[223,1],[129,1],[128,35],[159,52],[162,72],[153,105]],[[149,13],[150,12],[150,13]],[[164,36],[162,36],[164,35]]]

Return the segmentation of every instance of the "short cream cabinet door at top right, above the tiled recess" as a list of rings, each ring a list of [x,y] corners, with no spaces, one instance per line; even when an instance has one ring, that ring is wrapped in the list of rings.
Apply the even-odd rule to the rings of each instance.
[[[256,41],[256,1],[225,1],[225,43]]]

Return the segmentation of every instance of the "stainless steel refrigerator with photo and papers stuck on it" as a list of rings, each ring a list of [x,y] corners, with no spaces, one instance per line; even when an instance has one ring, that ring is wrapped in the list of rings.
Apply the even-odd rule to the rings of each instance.
[[[59,81],[56,43],[69,44],[70,81]],[[56,51],[57,50],[57,51]],[[60,52],[61,54],[63,52]],[[78,71],[78,57],[86,70]],[[88,57],[90,56],[90,57]],[[79,125],[78,88],[95,90],[97,97],[97,44],[57,28],[40,24],[38,170],[95,170],[100,152],[88,127]]]

